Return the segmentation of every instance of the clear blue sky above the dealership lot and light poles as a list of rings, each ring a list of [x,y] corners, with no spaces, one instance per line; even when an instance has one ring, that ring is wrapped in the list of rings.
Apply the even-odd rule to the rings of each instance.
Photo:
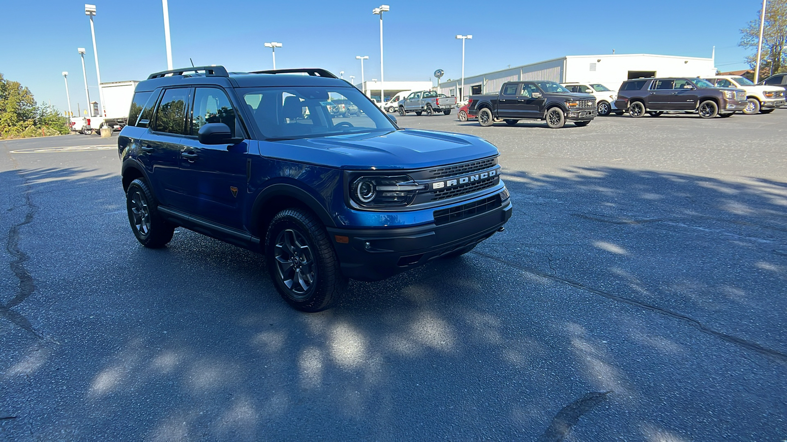
[[[3,2],[0,73],[30,88],[38,101],[67,107],[61,72],[68,71],[72,110],[84,106],[82,65],[77,47],[87,49],[85,65],[91,100],[98,96],[90,24],[84,1]],[[161,0],[96,0],[96,41],[102,81],[145,79],[167,68]],[[386,80],[471,76],[564,55],[661,53],[710,57],[716,65],[744,69],[747,55],[737,46],[739,29],[758,18],[759,0],[686,3],[633,1],[425,2],[387,0],[384,16]],[[360,82],[357,55],[366,79],[380,76],[380,2],[360,0],[264,1],[169,0],[175,67],[223,64],[231,71],[272,68],[264,42],[282,42],[277,68],[327,68]]]

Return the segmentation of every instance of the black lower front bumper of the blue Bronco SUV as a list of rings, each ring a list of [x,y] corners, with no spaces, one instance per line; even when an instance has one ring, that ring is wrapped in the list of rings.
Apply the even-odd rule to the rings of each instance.
[[[346,277],[379,281],[490,238],[511,214],[511,199],[507,198],[489,212],[442,225],[327,230]],[[338,237],[348,240],[339,241]]]

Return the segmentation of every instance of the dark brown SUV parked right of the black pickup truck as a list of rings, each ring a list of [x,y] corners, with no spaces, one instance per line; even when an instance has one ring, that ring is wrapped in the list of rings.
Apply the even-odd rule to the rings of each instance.
[[[746,108],[746,91],[715,87],[704,79],[630,79],[620,85],[615,107],[639,118],[645,113],[697,112],[702,118],[731,116]]]

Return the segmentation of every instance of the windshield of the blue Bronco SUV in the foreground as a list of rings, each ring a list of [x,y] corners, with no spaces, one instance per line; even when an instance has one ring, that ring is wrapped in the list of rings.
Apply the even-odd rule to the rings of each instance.
[[[315,138],[396,130],[385,114],[355,87],[238,90],[264,138]]]

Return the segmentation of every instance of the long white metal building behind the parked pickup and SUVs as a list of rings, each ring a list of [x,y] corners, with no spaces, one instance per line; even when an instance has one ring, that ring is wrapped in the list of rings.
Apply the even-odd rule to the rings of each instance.
[[[677,57],[652,53],[569,55],[533,64],[523,64],[480,76],[464,77],[464,94],[459,94],[462,79],[440,83],[440,92],[458,98],[471,94],[493,94],[507,81],[543,79],[558,83],[601,83],[617,90],[626,79],[665,76],[712,76],[714,59]]]

